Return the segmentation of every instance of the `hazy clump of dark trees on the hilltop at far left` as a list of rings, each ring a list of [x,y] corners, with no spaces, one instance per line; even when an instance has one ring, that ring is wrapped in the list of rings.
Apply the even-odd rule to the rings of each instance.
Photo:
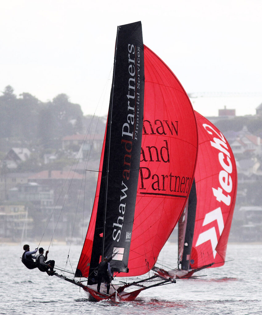
[[[14,94],[8,85],[0,96],[0,138],[15,137],[48,147],[55,139],[82,133],[83,112],[66,94],[43,103],[29,93]],[[52,147],[52,146],[51,146]]]

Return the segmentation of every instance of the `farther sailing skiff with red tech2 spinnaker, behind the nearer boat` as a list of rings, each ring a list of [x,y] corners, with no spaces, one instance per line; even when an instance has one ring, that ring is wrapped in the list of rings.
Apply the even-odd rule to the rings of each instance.
[[[178,268],[153,268],[166,278],[188,278],[199,270],[224,264],[235,207],[234,154],[217,127],[195,114],[199,151],[194,183],[179,219]]]

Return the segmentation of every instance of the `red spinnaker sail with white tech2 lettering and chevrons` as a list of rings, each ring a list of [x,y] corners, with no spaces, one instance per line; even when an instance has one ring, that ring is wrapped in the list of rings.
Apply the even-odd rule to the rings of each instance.
[[[191,268],[222,266],[235,207],[237,171],[233,152],[222,133],[195,112],[199,151],[195,171],[197,208]]]

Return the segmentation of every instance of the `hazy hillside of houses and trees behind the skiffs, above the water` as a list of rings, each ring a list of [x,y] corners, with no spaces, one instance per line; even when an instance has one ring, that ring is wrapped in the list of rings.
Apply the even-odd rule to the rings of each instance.
[[[55,226],[57,239],[65,240],[73,230],[80,238],[83,218],[87,226],[92,210],[106,117],[83,116],[66,95],[47,104],[28,93],[17,98],[9,87],[0,96],[2,127],[15,104],[27,114],[9,131],[0,128],[1,240],[35,239],[45,229],[52,234]],[[238,190],[229,240],[261,241],[262,104],[253,116],[238,117],[224,108],[207,118],[225,135],[236,159]],[[96,133],[87,136],[91,125]]]

